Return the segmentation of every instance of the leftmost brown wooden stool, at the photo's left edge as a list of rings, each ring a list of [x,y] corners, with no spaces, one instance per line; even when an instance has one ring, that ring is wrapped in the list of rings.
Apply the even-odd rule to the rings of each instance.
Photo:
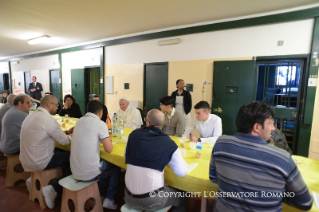
[[[6,175],[6,187],[13,186],[18,180],[26,180],[30,177],[30,172],[25,172],[19,155],[6,155],[7,162],[7,175]]]

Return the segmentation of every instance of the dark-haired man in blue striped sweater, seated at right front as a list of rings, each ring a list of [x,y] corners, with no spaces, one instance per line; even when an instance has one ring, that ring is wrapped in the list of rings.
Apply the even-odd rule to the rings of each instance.
[[[266,142],[275,129],[273,117],[265,102],[245,104],[236,117],[237,133],[216,141],[209,178],[219,192],[235,195],[217,197],[217,211],[282,211],[282,202],[301,210],[312,207],[290,154]]]

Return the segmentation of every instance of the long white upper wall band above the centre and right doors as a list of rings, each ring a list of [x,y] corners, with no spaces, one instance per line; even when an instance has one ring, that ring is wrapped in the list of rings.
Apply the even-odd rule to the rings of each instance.
[[[106,64],[134,64],[247,56],[308,54],[314,19],[178,36],[181,43],[159,40],[106,47]],[[174,37],[176,38],[176,37]],[[283,40],[283,46],[277,46]]]

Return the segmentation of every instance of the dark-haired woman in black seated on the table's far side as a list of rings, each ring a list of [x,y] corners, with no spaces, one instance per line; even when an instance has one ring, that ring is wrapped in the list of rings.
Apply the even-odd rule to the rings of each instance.
[[[73,118],[82,117],[80,106],[75,103],[74,97],[70,94],[64,96],[64,105],[59,112],[60,116],[65,116],[66,114],[68,114],[69,117]]]

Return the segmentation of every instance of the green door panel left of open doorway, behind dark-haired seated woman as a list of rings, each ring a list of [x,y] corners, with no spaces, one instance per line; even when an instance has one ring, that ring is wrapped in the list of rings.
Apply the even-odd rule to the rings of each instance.
[[[84,115],[86,103],[84,69],[71,70],[71,88],[72,96],[75,98],[76,103],[78,103]]]

